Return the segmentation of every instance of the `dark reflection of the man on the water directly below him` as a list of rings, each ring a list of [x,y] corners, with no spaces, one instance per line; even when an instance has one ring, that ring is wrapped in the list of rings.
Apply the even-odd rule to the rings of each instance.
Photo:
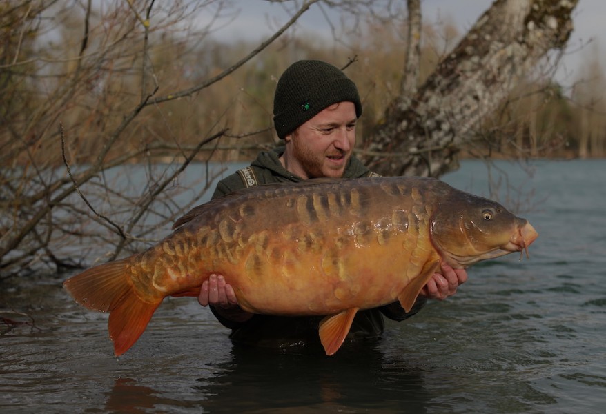
[[[292,412],[316,410],[422,413],[429,395],[420,373],[400,367],[390,375],[376,344],[360,342],[339,351],[288,355],[234,346],[233,359],[222,375],[198,389],[210,397],[210,412],[230,406],[235,412],[255,413],[289,408]],[[389,363],[387,363],[389,365]],[[395,371],[391,371],[395,373]]]

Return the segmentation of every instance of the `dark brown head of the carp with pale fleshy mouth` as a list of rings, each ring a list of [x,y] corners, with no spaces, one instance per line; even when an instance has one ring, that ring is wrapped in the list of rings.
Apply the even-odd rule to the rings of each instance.
[[[453,268],[528,252],[536,237],[526,219],[496,201],[458,190],[440,201],[431,220],[431,242]]]

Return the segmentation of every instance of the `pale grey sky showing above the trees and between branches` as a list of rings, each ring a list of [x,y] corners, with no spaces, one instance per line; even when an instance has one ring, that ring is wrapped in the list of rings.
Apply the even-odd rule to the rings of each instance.
[[[273,33],[271,29],[288,20],[283,7],[271,1],[246,0],[233,3],[235,6],[232,11],[238,11],[237,17],[233,23],[226,22],[224,30],[219,29],[213,33],[213,36],[219,40],[238,38],[257,40],[255,36],[260,39],[262,35],[271,34]],[[461,33],[465,33],[492,3],[492,0],[422,0],[422,17],[425,23],[450,19]],[[578,2],[574,10],[574,32],[569,39],[567,53],[563,57],[562,67],[556,74],[556,80],[572,83],[580,76],[583,61],[593,56],[601,57],[601,66],[606,70],[606,54],[603,52],[606,48],[605,17],[606,1],[580,0]],[[272,23],[269,24],[269,21]],[[299,24],[303,30],[325,32],[326,37],[331,37],[326,19],[317,5],[303,14]]]

